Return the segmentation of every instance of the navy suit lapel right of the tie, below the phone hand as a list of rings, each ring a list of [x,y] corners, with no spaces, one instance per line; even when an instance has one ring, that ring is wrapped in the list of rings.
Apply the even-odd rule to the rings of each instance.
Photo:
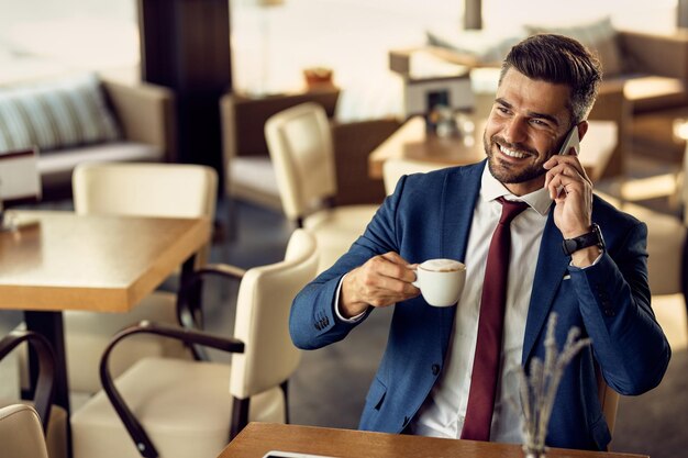
[[[522,364],[531,357],[535,340],[547,320],[554,294],[566,273],[570,259],[562,250],[562,233],[554,224],[554,209],[551,209],[542,234],[537,267],[533,279],[533,291],[528,310],[525,336],[523,338]]]

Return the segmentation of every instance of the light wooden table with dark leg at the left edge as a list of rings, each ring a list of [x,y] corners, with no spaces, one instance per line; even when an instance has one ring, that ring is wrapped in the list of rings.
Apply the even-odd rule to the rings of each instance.
[[[16,212],[37,224],[0,232],[0,309],[23,310],[26,326],[54,346],[55,403],[69,412],[63,310],[126,312],[210,238],[207,219]],[[184,273],[182,273],[184,275]]]

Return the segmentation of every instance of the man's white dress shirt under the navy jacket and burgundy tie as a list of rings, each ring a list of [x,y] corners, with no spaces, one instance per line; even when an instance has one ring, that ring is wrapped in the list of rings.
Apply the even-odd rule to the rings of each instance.
[[[490,440],[522,442],[522,415],[515,369],[521,365],[531,289],[552,199],[544,188],[517,199],[492,177],[488,167],[482,172],[480,196],[474,210],[464,259],[466,284],[457,305],[444,369],[410,425],[413,434],[460,437],[470,390],[487,253],[502,209],[496,200],[499,197],[522,200],[530,206],[511,222],[503,346]]]

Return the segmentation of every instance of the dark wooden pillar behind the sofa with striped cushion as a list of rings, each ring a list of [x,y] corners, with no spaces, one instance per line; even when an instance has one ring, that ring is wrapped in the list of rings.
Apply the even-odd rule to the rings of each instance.
[[[232,90],[229,0],[138,0],[138,23],[142,79],[176,94],[178,160],[209,165],[222,177],[219,100]]]

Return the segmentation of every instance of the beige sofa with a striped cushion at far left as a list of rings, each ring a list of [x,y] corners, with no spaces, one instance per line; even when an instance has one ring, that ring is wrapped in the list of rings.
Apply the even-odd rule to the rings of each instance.
[[[0,154],[36,147],[43,197],[70,194],[86,161],[171,161],[174,96],[95,74],[0,87]]]

